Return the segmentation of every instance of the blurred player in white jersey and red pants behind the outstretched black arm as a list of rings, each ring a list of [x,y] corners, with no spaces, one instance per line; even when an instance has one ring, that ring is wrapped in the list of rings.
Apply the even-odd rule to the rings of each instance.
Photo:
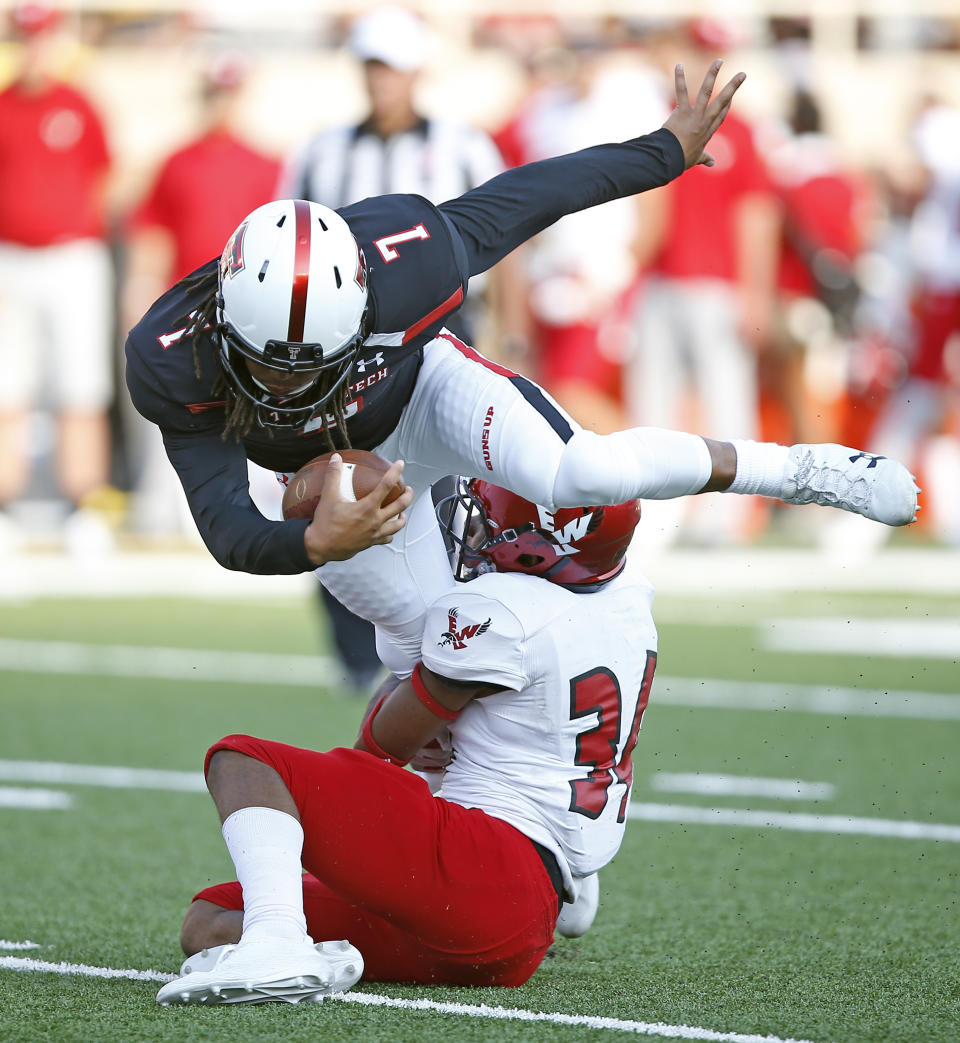
[[[528,94],[495,138],[511,166],[658,126],[668,111],[658,77],[635,53],[615,50],[603,26],[553,26],[552,44],[524,55]],[[626,426],[621,366],[642,199],[569,215],[525,250],[529,365],[578,422],[601,433]]]

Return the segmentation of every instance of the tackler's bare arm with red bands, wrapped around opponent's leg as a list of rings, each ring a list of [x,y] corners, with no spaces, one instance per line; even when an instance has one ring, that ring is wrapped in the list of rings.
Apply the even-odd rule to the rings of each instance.
[[[471,700],[503,690],[502,685],[481,681],[453,681],[421,663],[410,678],[374,704],[354,747],[406,765],[455,721]]]

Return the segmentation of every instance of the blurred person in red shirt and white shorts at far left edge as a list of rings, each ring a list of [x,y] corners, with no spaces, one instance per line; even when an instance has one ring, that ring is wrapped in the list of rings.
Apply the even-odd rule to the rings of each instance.
[[[14,7],[18,68],[0,94],[0,544],[20,540],[6,509],[29,485],[31,413],[49,408],[64,539],[85,552],[112,542],[95,509],[111,466],[111,156],[93,104],[54,72],[59,24],[46,4]]]

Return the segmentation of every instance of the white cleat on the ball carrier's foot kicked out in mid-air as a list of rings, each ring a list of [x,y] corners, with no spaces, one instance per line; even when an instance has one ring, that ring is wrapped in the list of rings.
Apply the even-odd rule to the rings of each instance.
[[[919,491],[896,460],[827,442],[790,447],[781,499],[839,507],[884,525],[909,525],[916,518]]]

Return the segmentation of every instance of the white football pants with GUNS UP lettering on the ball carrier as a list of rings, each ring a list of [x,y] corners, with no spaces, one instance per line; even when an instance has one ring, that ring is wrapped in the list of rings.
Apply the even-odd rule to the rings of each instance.
[[[537,394],[538,389],[533,397]],[[404,479],[416,493],[407,524],[392,543],[317,569],[335,598],[376,624],[378,653],[394,673],[409,674],[419,660],[426,610],[454,585],[431,485],[463,475],[487,479],[533,503],[550,503],[565,447],[560,432],[565,425],[578,429],[552,399],[544,399],[546,415],[507,375],[445,338],[425,348],[400,423],[376,450],[387,460],[406,462]]]

